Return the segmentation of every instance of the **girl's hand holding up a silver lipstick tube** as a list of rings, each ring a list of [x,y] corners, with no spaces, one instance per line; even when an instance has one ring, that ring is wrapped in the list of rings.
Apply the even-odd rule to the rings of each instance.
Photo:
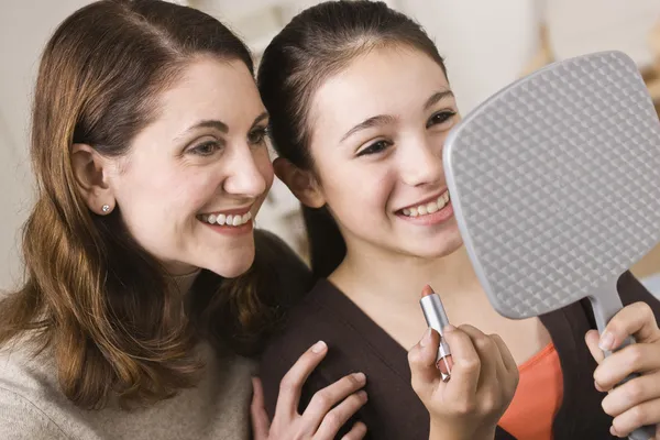
[[[497,334],[448,324],[439,297],[427,298],[431,295],[437,297],[427,286],[422,309],[429,329],[408,352],[413,388],[431,419],[429,439],[493,439],[518,385],[516,362]]]

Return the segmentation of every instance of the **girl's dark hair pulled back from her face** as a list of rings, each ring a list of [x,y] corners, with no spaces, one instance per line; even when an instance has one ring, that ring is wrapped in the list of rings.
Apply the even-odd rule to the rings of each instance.
[[[378,47],[406,46],[444,63],[424,29],[383,2],[328,1],[296,15],[263,54],[257,75],[280,157],[312,170],[310,107],[316,91],[355,57]],[[302,207],[315,277],[345,256],[345,242],[327,208]]]

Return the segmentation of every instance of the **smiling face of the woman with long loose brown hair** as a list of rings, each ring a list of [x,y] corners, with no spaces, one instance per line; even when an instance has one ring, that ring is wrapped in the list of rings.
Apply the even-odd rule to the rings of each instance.
[[[122,219],[170,273],[234,277],[251,266],[253,220],[273,183],[267,122],[242,62],[200,57],[117,161],[109,184]]]

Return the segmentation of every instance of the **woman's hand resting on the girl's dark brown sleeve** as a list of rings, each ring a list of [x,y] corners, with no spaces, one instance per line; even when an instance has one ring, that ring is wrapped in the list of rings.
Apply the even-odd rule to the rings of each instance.
[[[302,385],[327,353],[326,343],[318,342],[286,373],[280,382],[272,422],[264,408],[261,382],[253,378],[251,416],[255,440],[332,440],[366,403],[366,393],[361,389],[366,377],[362,373],[354,373],[317,392],[302,414],[298,413]],[[365,435],[366,426],[356,422],[343,439],[359,440]]]

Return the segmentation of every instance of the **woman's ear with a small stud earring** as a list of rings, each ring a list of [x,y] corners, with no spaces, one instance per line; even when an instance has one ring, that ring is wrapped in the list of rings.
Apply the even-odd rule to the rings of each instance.
[[[114,209],[114,195],[107,183],[109,162],[87,144],[72,146],[72,167],[78,191],[87,207],[105,216]]]

